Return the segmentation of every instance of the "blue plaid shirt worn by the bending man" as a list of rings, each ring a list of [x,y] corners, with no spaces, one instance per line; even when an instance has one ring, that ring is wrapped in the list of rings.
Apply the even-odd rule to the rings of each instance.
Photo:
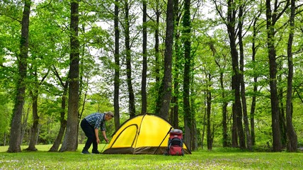
[[[85,117],[90,125],[95,129],[101,127],[101,131],[105,131],[105,114],[104,113],[93,113]]]

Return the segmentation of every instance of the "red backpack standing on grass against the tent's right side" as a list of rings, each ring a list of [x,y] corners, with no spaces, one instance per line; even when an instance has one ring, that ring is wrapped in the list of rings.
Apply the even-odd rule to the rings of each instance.
[[[169,132],[168,139],[168,155],[183,156],[183,132],[182,130],[174,129]]]

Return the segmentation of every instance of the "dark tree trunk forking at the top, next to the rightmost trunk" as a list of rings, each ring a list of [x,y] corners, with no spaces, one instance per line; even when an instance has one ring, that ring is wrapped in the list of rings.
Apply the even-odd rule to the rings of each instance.
[[[282,6],[285,4],[285,6]],[[280,152],[282,150],[281,132],[280,132],[280,118],[279,118],[279,101],[277,88],[277,57],[275,50],[275,23],[289,6],[289,1],[278,3],[275,0],[266,0],[266,32],[267,32],[267,48],[268,60],[270,69],[270,104],[271,104],[271,122],[273,132],[273,151]],[[272,11],[273,8],[273,11]],[[278,12],[280,10],[280,12]]]

